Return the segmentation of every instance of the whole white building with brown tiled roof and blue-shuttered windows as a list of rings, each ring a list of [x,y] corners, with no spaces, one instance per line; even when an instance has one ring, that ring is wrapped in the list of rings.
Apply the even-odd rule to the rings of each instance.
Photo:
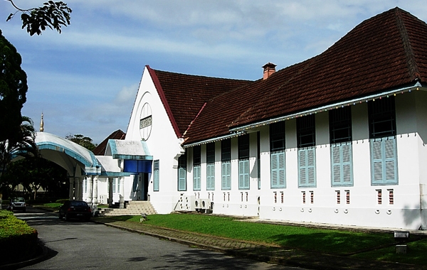
[[[204,204],[266,220],[427,228],[426,23],[391,9],[314,58],[263,68],[251,82],[147,65],[122,143],[144,153],[119,153],[118,140],[106,151],[131,173],[113,178],[123,200],[159,213]],[[137,159],[147,168],[125,170]]]

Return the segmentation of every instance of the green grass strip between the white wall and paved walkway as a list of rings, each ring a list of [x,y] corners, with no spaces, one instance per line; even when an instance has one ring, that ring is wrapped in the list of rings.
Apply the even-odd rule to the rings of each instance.
[[[140,217],[120,218],[139,222]],[[149,215],[144,224],[338,255],[350,255],[395,242],[393,234],[242,222],[214,215]]]

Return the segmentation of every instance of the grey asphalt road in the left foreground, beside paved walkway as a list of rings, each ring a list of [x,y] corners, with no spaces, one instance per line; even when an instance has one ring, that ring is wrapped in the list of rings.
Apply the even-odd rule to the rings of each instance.
[[[65,222],[28,207],[15,215],[37,229],[52,257],[23,269],[298,269],[188,247],[98,225]]]

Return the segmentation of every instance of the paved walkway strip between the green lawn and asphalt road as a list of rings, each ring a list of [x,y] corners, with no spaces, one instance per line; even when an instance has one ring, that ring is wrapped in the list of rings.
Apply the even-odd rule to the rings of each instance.
[[[117,221],[111,217],[96,217],[93,221],[105,224],[119,229],[126,229],[130,232],[147,234],[160,239],[179,242],[190,247],[200,247],[203,249],[223,252],[236,257],[246,257],[267,261],[273,264],[283,264],[286,266],[300,266],[306,269],[427,269],[426,266],[415,266],[411,264],[396,264],[381,261],[366,261],[351,257],[339,257],[329,254],[319,254],[297,249],[285,249],[273,244],[260,244],[256,242],[247,242],[236,239],[215,237],[208,234],[198,234],[194,232],[184,232],[176,229],[167,229],[154,227],[138,222]],[[249,222],[267,222],[274,224],[283,224],[286,222],[264,221],[264,220],[246,220]],[[307,224],[305,224],[307,225]],[[324,225],[327,226],[327,225]],[[310,227],[322,227],[322,225],[310,224]],[[331,229],[332,227],[327,227]],[[334,229],[349,229],[344,227],[334,227]],[[350,228],[362,231],[384,232],[384,229],[374,228]],[[392,232],[392,230],[389,230]],[[413,233],[422,231],[413,231]]]

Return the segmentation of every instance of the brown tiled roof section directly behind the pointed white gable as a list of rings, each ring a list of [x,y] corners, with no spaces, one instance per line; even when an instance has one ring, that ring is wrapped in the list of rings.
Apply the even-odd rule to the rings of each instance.
[[[209,99],[251,82],[153,70],[149,65],[146,68],[179,138]]]

